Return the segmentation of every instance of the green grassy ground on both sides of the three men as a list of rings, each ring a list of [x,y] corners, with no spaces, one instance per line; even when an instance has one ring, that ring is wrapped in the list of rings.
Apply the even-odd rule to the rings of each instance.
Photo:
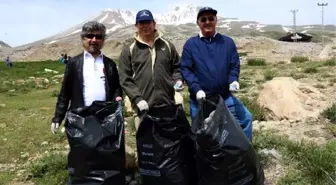
[[[265,112],[256,104],[255,98],[262,83],[276,76],[315,79],[321,82],[319,88],[333,86],[336,82],[334,60],[276,65],[250,61],[256,61],[256,64],[250,62],[250,66],[242,66],[242,90],[237,96],[258,120],[264,119]],[[52,135],[50,132],[60,84],[54,81],[57,74],[45,73],[45,68],[56,70],[58,74],[64,71],[64,65],[54,61],[15,63],[12,69],[0,65],[0,184],[28,180],[40,185],[58,185],[66,181],[66,138],[62,133]],[[35,77],[35,81],[29,81],[29,77]],[[42,83],[36,78],[42,78]],[[187,99],[185,110],[188,115]],[[335,122],[335,113],[336,107],[330,107],[324,116]],[[131,136],[134,131],[132,121],[126,120],[129,121],[128,136]],[[336,135],[334,125],[330,126],[330,131]],[[127,139],[134,146],[134,139]],[[281,133],[256,131],[254,146],[258,151],[276,149],[283,156],[280,161],[286,170],[278,184],[336,184],[334,141],[317,146],[307,142],[294,143]],[[274,165],[267,156],[263,156],[263,163],[270,168]]]

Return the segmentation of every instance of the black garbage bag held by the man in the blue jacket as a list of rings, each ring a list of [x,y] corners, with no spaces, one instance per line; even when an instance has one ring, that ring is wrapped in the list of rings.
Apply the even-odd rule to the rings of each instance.
[[[219,95],[199,102],[192,134],[199,185],[264,184],[258,154]]]

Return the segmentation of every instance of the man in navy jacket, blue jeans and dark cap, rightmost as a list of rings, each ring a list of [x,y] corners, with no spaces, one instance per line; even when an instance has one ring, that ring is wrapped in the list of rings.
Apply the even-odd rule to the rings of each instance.
[[[252,140],[252,115],[232,94],[239,90],[240,60],[234,41],[217,33],[217,11],[201,8],[197,14],[200,33],[183,46],[181,73],[190,93],[190,115],[196,117],[198,100],[220,94],[232,115]]]

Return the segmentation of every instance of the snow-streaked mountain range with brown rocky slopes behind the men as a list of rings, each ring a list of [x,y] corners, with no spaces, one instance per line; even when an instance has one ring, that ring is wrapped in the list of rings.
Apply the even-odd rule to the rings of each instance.
[[[180,51],[185,40],[199,32],[196,25],[196,15],[201,7],[195,5],[177,6],[173,11],[155,14],[158,29],[170,39]],[[89,20],[101,22],[107,27],[108,39],[105,53],[116,57],[125,41],[132,37],[135,31],[134,21],[136,12],[126,9],[105,9]],[[59,34],[14,48],[12,58],[17,60],[46,60],[56,59],[61,53],[73,56],[81,51],[80,37],[82,25],[78,25],[60,32]],[[336,26],[328,25],[325,28],[327,36],[336,36]],[[279,39],[292,31],[291,26],[266,25],[256,21],[239,20],[218,15],[217,30],[220,33],[246,40],[245,37],[268,37]],[[297,26],[302,33],[313,34],[319,39],[320,25]],[[315,34],[315,35],[314,35]],[[315,37],[314,37],[315,38]]]

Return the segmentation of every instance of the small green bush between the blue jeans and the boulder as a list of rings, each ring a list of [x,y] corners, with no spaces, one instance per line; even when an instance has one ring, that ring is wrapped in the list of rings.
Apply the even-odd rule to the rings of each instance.
[[[257,103],[256,99],[252,100],[247,97],[242,97],[240,101],[251,112],[253,120],[265,120],[265,110]]]

